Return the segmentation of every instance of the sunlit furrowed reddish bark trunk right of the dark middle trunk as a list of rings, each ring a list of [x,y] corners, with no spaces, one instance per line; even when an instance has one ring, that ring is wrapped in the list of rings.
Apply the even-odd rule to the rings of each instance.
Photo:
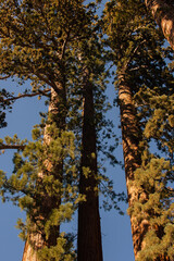
[[[141,156],[138,150],[140,141],[140,130],[136,119],[136,109],[133,102],[132,90],[125,83],[124,77],[120,77],[119,100],[121,110],[122,140],[125,162],[126,187],[129,207],[138,199],[137,188],[130,183],[134,181],[134,172],[141,164]],[[130,216],[132,235],[134,244],[134,254],[137,258],[141,250],[142,239],[148,231],[147,221],[136,223],[135,217]]]

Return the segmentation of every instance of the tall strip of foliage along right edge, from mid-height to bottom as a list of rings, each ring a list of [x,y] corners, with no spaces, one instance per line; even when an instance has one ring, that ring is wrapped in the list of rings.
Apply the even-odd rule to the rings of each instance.
[[[144,122],[144,146],[146,149],[142,156],[142,165],[135,173],[135,184],[139,189],[144,188],[148,191],[148,198],[135,203],[134,214],[138,207],[140,215],[142,213],[144,217],[146,215],[150,229],[145,237],[146,247],[140,251],[139,260],[158,260],[158,258],[164,257],[173,260],[173,89],[167,86],[165,88],[163,86],[162,89],[157,87],[151,90],[142,89],[144,95],[140,95],[140,98],[137,94],[137,101],[140,101],[141,107],[140,119],[142,112],[145,112],[144,116],[146,115],[144,117],[146,122],[146,124]],[[154,144],[158,149],[156,149],[156,153],[150,153]],[[141,191],[139,191],[140,194]]]

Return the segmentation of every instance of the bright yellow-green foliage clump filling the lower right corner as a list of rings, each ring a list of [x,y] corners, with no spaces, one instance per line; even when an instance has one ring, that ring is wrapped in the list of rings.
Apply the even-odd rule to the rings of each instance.
[[[164,257],[173,260],[174,204],[173,188],[170,186],[173,167],[170,161],[153,154],[144,154],[144,160],[142,166],[135,172],[134,181],[139,200],[128,209],[128,213],[136,216],[137,221],[149,225],[144,239],[145,247],[137,260],[152,261]]]

